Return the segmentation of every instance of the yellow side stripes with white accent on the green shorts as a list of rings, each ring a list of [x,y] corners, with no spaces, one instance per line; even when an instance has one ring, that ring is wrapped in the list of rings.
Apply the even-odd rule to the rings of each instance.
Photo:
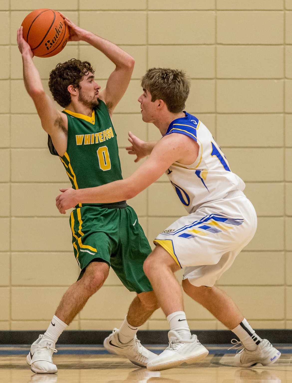
[[[75,216],[77,214],[77,221],[74,217],[74,213],[75,213]],[[77,231],[74,228],[75,222],[76,222],[76,225],[78,225]],[[80,268],[81,268],[81,266],[80,266],[80,262],[78,260],[79,252],[87,252],[91,255],[94,255],[97,253],[97,250],[95,249],[95,247],[84,245],[82,243],[82,237],[84,236],[84,233],[82,232],[82,224],[83,224],[83,221],[81,218],[81,209],[77,208],[77,209],[73,210],[70,214],[70,226],[71,226],[71,230],[72,230],[73,239],[75,238],[75,241],[72,240],[73,247],[75,249],[75,251],[74,251],[75,258],[76,258]]]

